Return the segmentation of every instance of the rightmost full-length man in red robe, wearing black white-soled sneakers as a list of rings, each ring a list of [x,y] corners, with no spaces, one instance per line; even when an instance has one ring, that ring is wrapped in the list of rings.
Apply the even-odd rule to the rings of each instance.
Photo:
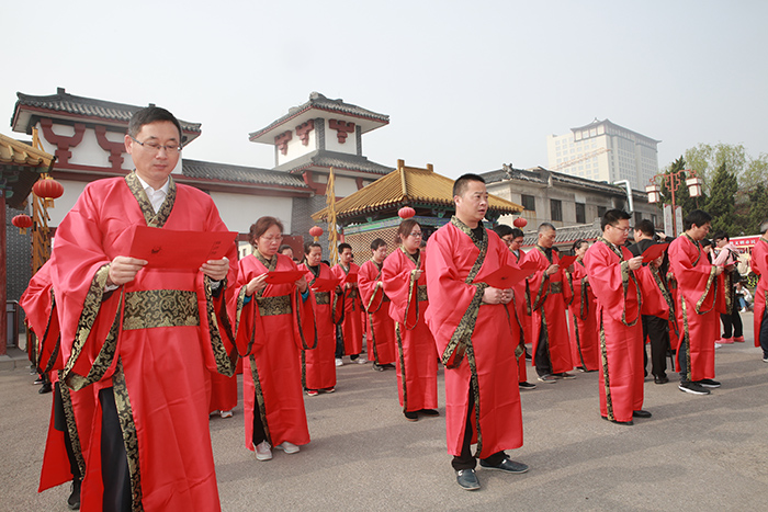
[[[720,338],[715,307],[723,293],[716,277],[723,268],[710,263],[701,247],[710,232],[712,216],[694,209],[682,224],[686,232],[669,244],[669,269],[677,281],[675,312],[680,330],[678,388],[691,395],[709,395],[710,389],[720,387],[713,377],[714,340]]]

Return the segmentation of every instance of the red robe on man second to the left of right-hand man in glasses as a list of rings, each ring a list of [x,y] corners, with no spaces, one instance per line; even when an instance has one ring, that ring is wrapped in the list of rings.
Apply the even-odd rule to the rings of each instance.
[[[552,251],[552,261],[546,258],[544,249],[534,246],[526,254],[526,262],[537,263],[537,270],[528,284],[531,289],[533,364],[537,362],[537,349],[542,334],[549,342],[552,373],[558,374],[574,368],[568,343],[568,325],[566,322],[565,305],[571,300],[571,291],[564,286],[563,271],[560,269],[552,275],[546,275],[546,269],[560,263],[560,258]]]

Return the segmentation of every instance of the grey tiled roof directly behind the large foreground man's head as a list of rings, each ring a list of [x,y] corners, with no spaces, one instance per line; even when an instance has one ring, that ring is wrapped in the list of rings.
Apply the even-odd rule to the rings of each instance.
[[[13,117],[11,125],[14,125],[19,111],[22,106],[33,106],[53,112],[63,112],[67,114],[82,115],[89,117],[100,117],[102,120],[117,121],[127,124],[131,116],[143,106],[127,105],[125,103],[115,103],[112,101],[95,100],[93,98],[83,98],[69,94],[64,88],[58,88],[56,94],[47,96],[34,96],[16,92],[19,101],[13,109]],[[181,121],[181,129],[184,132],[201,133],[201,123],[189,123]],[[15,126],[14,126],[15,128]],[[24,130],[26,126],[21,127]]]

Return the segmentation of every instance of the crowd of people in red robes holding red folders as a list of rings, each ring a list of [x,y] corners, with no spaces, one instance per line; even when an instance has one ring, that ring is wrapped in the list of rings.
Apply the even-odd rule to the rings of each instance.
[[[630,215],[612,209],[601,237],[577,240],[573,255],[544,223],[524,253],[519,229],[484,227],[488,193],[476,174],[455,181],[455,215],[426,243],[406,219],[393,250],[376,239],[360,266],[347,243],[329,266],[316,242],[297,265],[281,246],[282,223],[268,216],[250,227],[252,253],[239,261],[233,243],[199,266],[157,269],[127,255],[125,232],[226,231],[208,196],[170,177],[181,136],[168,111],[134,116],[125,145],[136,171],[86,187],[22,298],[36,367],[55,390],[39,488],[72,481],[71,509],[219,510],[208,414],[231,417],[238,369],[246,448],[269,460],[274,448],[309,443],[305,395],[335,392],[345,357],[394,367],[393,400],[408,421],[440,416],[441,364],[451,465],[459,486],[476,490],[477,459],[484,470],[528,471],[506,453],[522,445],[520,391],[535,388],[527,359],[544,384],[599,372],[600,416],[631,425],[652,416],[646,339],[654,382],[668,382],[671,356],[679,389],[696,395],[720,386],[715,341],[744,341],[734,250],[718,234],[708,252],[707,213],[691,212],[668,244],[641,221],[628,247]],[[759,275],[766,237],[753,252]],[[755,345],[768,362],[766,297],[761,281]]]

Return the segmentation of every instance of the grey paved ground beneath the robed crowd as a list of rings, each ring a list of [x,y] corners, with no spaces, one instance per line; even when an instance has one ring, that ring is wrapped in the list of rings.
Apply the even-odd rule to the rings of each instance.
[[[766,510],[768,364],[752,343],[752,314],[743,317],[747,342],[718,351],[723,387],[698,397],[647,382],[645,408],[654,417],[634,426],[600,419],[597,374],[523,392],[524,446],[511,455],[531,470],[478,470],[476,492],[455,483],[442,417],[405,421],[394,372],[346,365],[336,394],[306,398],[313,442],[296,455],[257,462],[244,447],[241,406],[233,419],[211,421],[222,507]],[[64,511],[67,486],[36,492],[50,395],[38,395],[20,366],[0,371],[0,510]],[[442,373],[439,383],[442,414]]]

